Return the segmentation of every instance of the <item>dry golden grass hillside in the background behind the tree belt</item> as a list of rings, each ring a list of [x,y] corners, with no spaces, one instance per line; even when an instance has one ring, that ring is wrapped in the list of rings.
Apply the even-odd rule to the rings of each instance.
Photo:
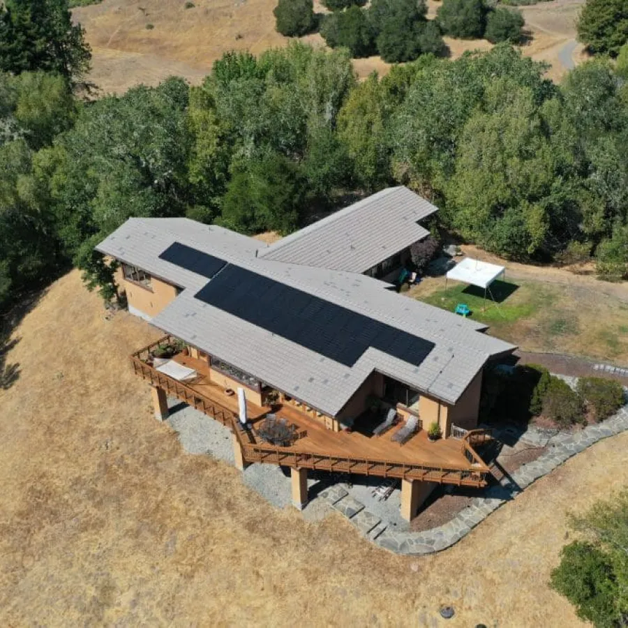
[[[289,38],[275,30],[276,0],[194,0],[184,8],[183,0],[104,0],[76,8],[73,16],[87,31],[94,53],[90,78],[103,93],[122,93],[136,84],[156,85],[171,75],[199,84],[211,64],[228,50],[260,54],[269,47],[286,45]],[[574,20],[583,0],[554,0],[523,7],[532,39],[523,45],[524,54],[553,64],[549,75],[559,80],[565,73],[558,52],[575,37]],[[434,17],[440,1],[428,0],[428,17]],[[314,10],[326,10],[315,1]],[[152,24],[153,29],[147,29]],[[301,38],[324,47],[318,33]],[[445,38],[451,58],[466,50],[490,50],[486,40]],[[581,49],[574,54],[581,60]],[[354,67],[364,78],[390,65],[380,57],[356,59]]]

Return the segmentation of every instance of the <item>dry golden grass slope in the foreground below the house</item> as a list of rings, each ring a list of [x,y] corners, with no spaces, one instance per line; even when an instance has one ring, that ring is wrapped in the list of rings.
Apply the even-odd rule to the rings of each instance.
[[[239,473],[182,451],[127,355],[158,336],[110,321],[77,271],[15,330],[0,391],[0,625],[580,625],[547,585],[565,511],[628,481],[628,434],[597,444],[454,548],[391,555],[334,514],[305,523]]]

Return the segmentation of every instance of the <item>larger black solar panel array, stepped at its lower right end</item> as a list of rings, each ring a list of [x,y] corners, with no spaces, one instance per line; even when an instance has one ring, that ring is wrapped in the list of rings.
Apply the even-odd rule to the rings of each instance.
[[[195,297],[345,366],[353,366],[368,347],[419,366],[434,346],[234,264]]]

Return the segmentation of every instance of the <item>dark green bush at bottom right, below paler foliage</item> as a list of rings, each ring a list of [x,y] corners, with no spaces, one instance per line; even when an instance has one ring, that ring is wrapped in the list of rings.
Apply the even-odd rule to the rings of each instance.
[[[620,625],[615,601],[619,588],[611,556],[589,543],[575,541],[562,548],[551,585],[576,606],[578,617],[596,626]]]

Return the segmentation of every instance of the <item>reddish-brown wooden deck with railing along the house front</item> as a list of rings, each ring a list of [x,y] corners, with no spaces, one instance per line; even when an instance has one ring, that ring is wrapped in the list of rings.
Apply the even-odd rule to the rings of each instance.
[[[142,352],[131,357],[135,373],[232,428],[248,462],[424,479],[463,486],[486,485],[488,467],[468,442],[454,438],[430,442],[427,433],[419,431],[400,445],[391,437],[401,424],[380,436],[360,431],[334,432],[296,408],[280,405],[273,408],[273,412],[306,435],[291,447],[275,447],[257,435],[257,428],[271,408],[247,402],[247,416],[253,429],[242,430],[239,427],[237,396],[227,396],[221,387],[209,380],[207,362],[177,354],[173,358],[175,361],[198,373],[197,380],[183,384],[146,364]]]

